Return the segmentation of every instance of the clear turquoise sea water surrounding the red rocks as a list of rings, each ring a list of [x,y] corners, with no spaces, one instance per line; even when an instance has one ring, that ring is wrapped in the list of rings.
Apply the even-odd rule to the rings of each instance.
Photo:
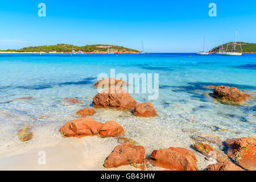
[[[96,109],[92,116],[103,123],[117,121],[127,138],[137,140],[146,148],[147,155],[154,149],[171,146],[191,149],[195,142],[191,136],[196,134],[221,141],[255,136],[255,98],[241,105],[227,105],[215,100],[213,90],[203,86],[235,86],[256,92],[256,54],[234,57],[195,53],[0,54],[0,166],[8,168],[12,160],[7,158],[25,154],[25,148],[79,140],[62,138],[59,128],[77,118],[77,110],[92,106],[92,98],[97,94],[93,84],[99,73],[110,75],[110,69],[127,77],[129,73],[159,74],[158,99],[148,100],[147,94],[131,93],[138,102],[152,102],[159,117],[139,118],[130,111],[111,109]],[[14,100],[27,96],[33,98]],[[62,101],[65,97],[77,98],[84,104],[67,105]],[[47,117],[40,118],[40,115]],[[34,138],[22,143],[16,131],[27,125],[33,126]],[[113,138],[80,140],[89,142],[83,149],[90,151],[87,157],[102,152],[94,156],[95,164],[84,169],[101,169],[100,164],[118,144]],[[222,150],[222,146],[212,145]],[[102,150],[104,146],[108,150]],[[203,156],[199,153],[196,156],[199,167],[205,168],[207,162]]]

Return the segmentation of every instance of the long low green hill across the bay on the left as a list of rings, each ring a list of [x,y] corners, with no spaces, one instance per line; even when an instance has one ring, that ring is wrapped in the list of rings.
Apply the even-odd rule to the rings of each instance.
[[[95,44],[95,45],[86,45],[86,46],[73,46],[70,44],[57,44],[53,46],[34,46],[34,47],[24,47],[21,49],[7,49],[4,52],[72,52],[83,51],[83,52],[107,52],[109,48],[110,52],[120,52],[120,53],[130,53],[130,52],[139,52],[135,49],[130,49],[122,46],[106,45],[106,44]]]

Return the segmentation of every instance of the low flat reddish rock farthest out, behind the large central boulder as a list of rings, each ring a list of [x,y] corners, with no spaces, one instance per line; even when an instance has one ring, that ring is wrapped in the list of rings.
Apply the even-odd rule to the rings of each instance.
[[[99,81],[97,81],[94,86],[95,87],[100,87],[100,88],[106,88],[110,86],[117,86],[117,87],[122,87],[126,86],[127,82],[123,80],[116,80],[115,78],[104,78]]]

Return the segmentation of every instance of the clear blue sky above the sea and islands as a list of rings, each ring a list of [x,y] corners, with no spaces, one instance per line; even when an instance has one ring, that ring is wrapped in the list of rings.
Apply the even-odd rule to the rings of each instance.
[[[38,4],[46,4],[46,17]],[[217,5],[210,17],[209,3]],[[1,1],[0,49],[57,43],[115,44],[146,52],[196,52],[234,41],[256,43],[255,0]]]

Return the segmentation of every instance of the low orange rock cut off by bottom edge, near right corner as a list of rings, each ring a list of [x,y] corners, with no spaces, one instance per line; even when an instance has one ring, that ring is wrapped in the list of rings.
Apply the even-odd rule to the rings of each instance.
[[[232,162],[225,162],[210,164],[207,166],[207,171],[243,171],[243,169]]]

